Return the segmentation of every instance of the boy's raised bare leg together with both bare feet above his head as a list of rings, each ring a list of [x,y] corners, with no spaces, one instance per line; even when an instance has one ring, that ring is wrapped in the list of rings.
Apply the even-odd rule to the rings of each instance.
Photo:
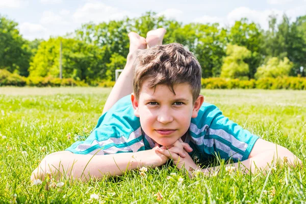
[[[146,39],[137,33],[129,33],[130,52],[126,58],[126,65],[105,103],[103,113],[107,112],[120,98],[133,92],[133,64],[137,49],[145,49],[147,46],[152,47],[163,44],[165,33],[166,30],[163,28],[152,30],[147,33]]]

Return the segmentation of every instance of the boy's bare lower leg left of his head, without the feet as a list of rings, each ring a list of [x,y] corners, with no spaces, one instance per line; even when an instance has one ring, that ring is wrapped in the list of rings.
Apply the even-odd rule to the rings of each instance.
[[[126,65],[117,79],[107,101],[105,103],[103,114],[106,113],[112,106],[122,97],[133,92],[133,63],[134,56],[127,56]]]

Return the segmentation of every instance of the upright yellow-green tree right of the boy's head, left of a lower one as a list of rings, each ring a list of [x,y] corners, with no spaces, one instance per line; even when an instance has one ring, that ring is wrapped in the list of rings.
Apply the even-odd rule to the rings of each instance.
[[[249,66],[245,60],[250,57],[251,52],[246,47],[228,44],[220,77],[248,79]]]

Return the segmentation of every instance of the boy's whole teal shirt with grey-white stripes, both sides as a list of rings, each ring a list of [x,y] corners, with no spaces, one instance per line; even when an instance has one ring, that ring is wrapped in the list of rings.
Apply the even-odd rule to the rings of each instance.
[[[259,137],[222,115],[214,105],[203,103],[198,116],[191,119],[185,142],[193,148],[191,155],[201,161],[213,156],[228,160],[248,159]],[[131,95],[120,100],[105,114],[85,141],[77,141],[66,150],[74,154],[107,155],[136,152],[155,146],[141,129],[140,120],[134,115]]]

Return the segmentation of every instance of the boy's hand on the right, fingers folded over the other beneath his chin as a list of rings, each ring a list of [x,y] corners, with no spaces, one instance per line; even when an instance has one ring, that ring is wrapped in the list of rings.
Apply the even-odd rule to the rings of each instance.
[[[167,148],[165,146],[157,149],[160,154],[166,156],[169,159],[172,159],[177,168],[182,169],[186,168],[188,172],[190,172],[189,168],[196,169],[196,164],[193,162],[192,158],[189,156],[189,152],[192,151],[192,148],[187,143],[184,143],[180,138],[177,140],[172,147]],[[186,147],[186,148],[185,148]]]

